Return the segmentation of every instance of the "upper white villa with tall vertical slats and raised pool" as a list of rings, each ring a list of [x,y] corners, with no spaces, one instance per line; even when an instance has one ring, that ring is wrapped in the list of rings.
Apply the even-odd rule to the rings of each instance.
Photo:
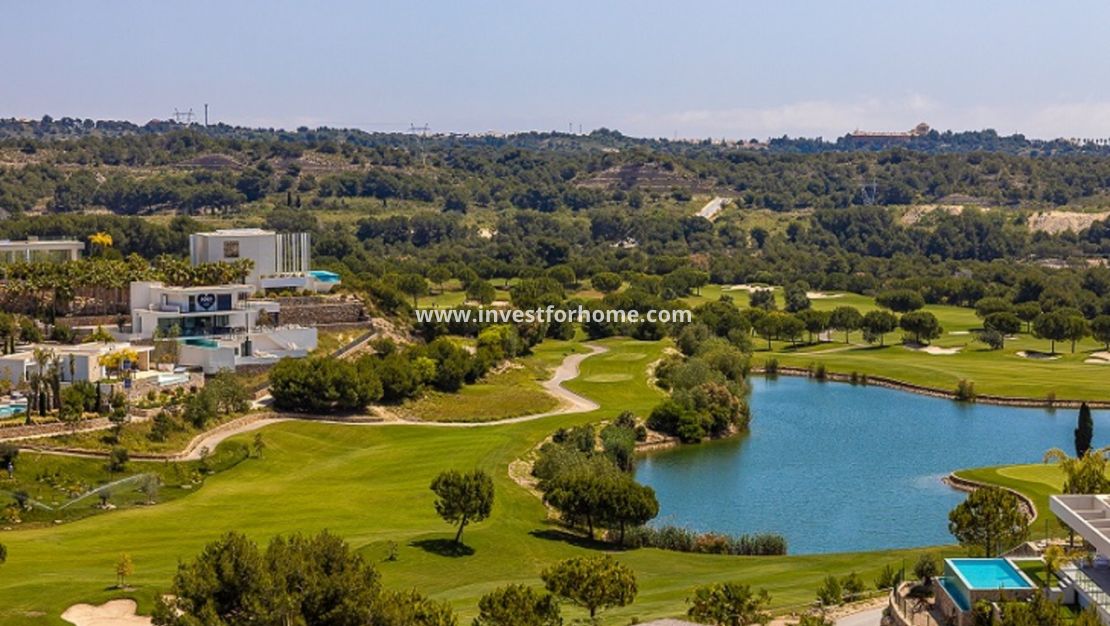
[[[193,265],[250,259],[254,262],[246,282],[260,290],[331,291],[340,277],[311,269],[309,233],[276,233],[262,229],[224,229],[189,235]]]

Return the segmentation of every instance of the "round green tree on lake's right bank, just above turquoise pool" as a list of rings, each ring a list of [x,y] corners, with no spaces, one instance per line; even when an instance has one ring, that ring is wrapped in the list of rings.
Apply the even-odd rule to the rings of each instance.
[[[1029,518],[1018,496],[1001,487],[980,487],[948,514],[948,532],[960,545],[996,556],[1026,538]]]

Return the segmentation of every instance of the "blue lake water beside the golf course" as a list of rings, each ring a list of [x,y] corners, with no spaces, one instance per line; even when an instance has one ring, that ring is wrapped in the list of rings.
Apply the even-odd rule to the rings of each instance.
[[[753,377],[744,437],[642,457],[654,524],[771,532],[790,554],[951,544],[948,512],[963,495],[953,470],[1038,463],[1073,452],[1078,410],[962,404],[881,387]],[[1110,443],[1096,411],[1094,445]]]

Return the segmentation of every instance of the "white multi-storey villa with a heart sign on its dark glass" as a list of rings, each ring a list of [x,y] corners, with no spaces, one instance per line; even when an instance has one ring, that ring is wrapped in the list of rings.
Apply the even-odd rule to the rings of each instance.
[[[254,291],[252,284],[131,283],[131,339],[178,337],[178,363],[209,374],[305,356],[316,347],[315,327],[279,325],[281,306],[251,299]]]

